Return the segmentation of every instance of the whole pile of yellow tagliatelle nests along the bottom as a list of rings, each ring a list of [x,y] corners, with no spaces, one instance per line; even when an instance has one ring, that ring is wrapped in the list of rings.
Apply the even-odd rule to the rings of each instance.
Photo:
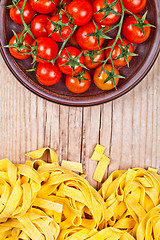
[[[47,149],[52,163],[40,160]],[[35,160],[0,161],[0,240],[160,239],[155,169],[115,171],[97,192],[83,174],[67,169],[76,163],[60,166],[54,150],[27,156]],[[104,154],[97,150],[93,156],[102,166]]]

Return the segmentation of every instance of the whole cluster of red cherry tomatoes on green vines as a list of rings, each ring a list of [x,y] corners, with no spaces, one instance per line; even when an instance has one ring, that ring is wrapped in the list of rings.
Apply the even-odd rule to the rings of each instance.
[[[10,53],[18,59],[32,56],[37,63],[37,80],[43,85],[54,85],[65,74],[66,86],[74,93],[88,90],[91,74],[98,88],[116,88],[121,77],[117,67],[129,65],[135,55],[132,43],[146,41],[151,31],[146,14],[137,15],[146,0],[14,0],[13,3],[11,19],[17,24],[30,24],[30,32],[14,33],[8,45]],[[122,15],[124,20],[117,26],[123,37],[110,39],[111,25],[115,26]]]

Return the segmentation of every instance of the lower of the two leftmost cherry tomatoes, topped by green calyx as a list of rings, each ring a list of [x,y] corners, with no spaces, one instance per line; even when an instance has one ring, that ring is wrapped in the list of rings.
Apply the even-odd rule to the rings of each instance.
[[[21,33],[17,33],[18,39],[19,39],[20,35],[21,35]],[[24,46],[26,46],[30,49],[28,44],[32,45],[33,41],[34,41],[33,38],[27,33],[25,35],[25,38],[24,38],[23,42],[22,42],[22,46],[24,45]],[[13,45],[13,44],[17,44],[15,36],[13,36],[9,41],[9,45]],[[17,45],[19,45],[19,44],[17,44]],[[31,55],[23,55],[24,53],[29,53],[31,51],[31,49],[30,50],[21,49],[20,53],[19,53],[18,50],[13,47],[13,48],[9,48],[9,51],[10,51],[11,55],[13,57],[17,58],[17,59],[27,59],[31,56]]]

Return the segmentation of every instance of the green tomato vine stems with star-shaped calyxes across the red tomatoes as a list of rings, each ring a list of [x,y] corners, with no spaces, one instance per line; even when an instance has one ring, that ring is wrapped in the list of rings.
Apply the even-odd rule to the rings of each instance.
[[[86,53],[86,56],[90,56],[90,58],[91,58],[91,63],[93,63],[93,57],[94,57],[94,55],[100,54],[100,53],[99,53],[100,50],[110,49],[110,53],[109,53],[108,57],[106,57],[105,60],[101,61],[101,62],[102,62],[102,68],[101,68],[101,71],[100,71],[100,73],[99,73],[99,76],[100,76],[100,74],[102,73],[102,71],[104,71],[104,72],[107,74],[107,76],[108,76],[107,79],[104,81],[104,83],[106,83],[107,81],[111,80],[111,81],[113,82],[113,85],[115,86],[115,88],[116,88],[116,84],[115,84],[115,80],[114,80],[114,79],[115,79],[116,77],[118,77],[118,78],[124,78],[124,77],[121,76],[121,75],[116,75],[116,74],[115,74],[115,70],[114,70],[114,61],[113,61],[113,58],[112,58],[112,53],[113,53],[113,50],[114,50],[115,45],[117,44],[117,41],[120,40],[120,41],[122,42],[122,46],[121,46],[120,44],[117,44],[117,45],[119,46],[120,50],[121,50],[121,54],[119,55],[119,57],[117,57],[117,58],[114,59],[114,60],[117,60],[117,59],[119,59],[119,58],[121,58],[121,57],[124,57],[125,60],[126,60],[127,66],[129,66],[128,55],[130,55],[130,56],[136,56],[136,55],[137,55],[137,54],[135,54],[135,53],[130,53],[130,52],[128,51],[128,49],[129,49],[129,44],[130,44],[130,43],[129,43],[127,46],[125,46],[125,43],[124,43],[124,41],[123,41],[123,39],[122,39],[122,37],[121,37],[122,25],[123,25],[123,22],[124,22],[125,12],[129,13],[130,15],[132,15],[132,16],[136,19],[136,22],[137,22],[137,23],[136,23],[136,24],[133,24],[133,25],[136,26],[136,27],[139,27],[139,28],[141,29],[141,31],[142,31],[143,34],[145,34],[145,32],[144,32],[144,27],[147,27],[147,26],[148,26],[148,27],[153,27],[153,25],[151,25],[151,24],[146,24],[146,23],[145,23],[145,19],[146,19],[147,12],[145,12],[145,14],[144,14],[144,15],[142,16],[142,18],[140,19],[140,18],[137,17],[134,13],[132,13],[131,11],[129,11],[128,9],[126,9],[126,8],[124,7],[123,0],[119,0],[119,1],[120,1],[120,4],[121,4],[121,13],[118,13],[118,12],[116,12],[116,11],[113,10],[113,7],[117,4],[118,0],[113,1],[110,5],[107,3],[106,0],[104,0],[104,5],[105,5],[105,7],[102,8],[101,10],[99,10],[98,12],[96,12],[96,13],[100,13],[100,12],[103,12],[103,11],[105,10],[104,17],[102,18],[101,21],[103,21],[103,20],[109,15],[109,13],[114,13],[114,14],[116,14],[116,15],[120,15],[120,18],[119,18],[119,22],[118,22],[116,25],[114,25],[113,27],[111,27],[110,29],[108,29],[108,30],[105,30],[105,27],[103,27],[103,28],[101,28],[101,29],[98,29],[96,23],[95,23],[94,20],[93,20],[93,23],[94,23],[94,25],[95,25],[95,32],[94,32],[94,33],[91,33],[91,34],[88,34],[87,36],[96,37],[97,42],[98,42],[99,49],[98,49],[98,50],[94,50],[94,51],[88,51],[88,52]],[[30,26],[25,23],[24,18],[23,18],[23,12],[24,12],[24,8],[25,8],[26,2],[27,2],[27,0],[24,0],[24,1],[23,1],[22,8],[20,9],[20,8],[18,7],[19,0],[12,0],[12,5],[9,5],[8,7],[9,7],[9,8],[11,8],[11,7],[16,7],[16,8],[19,10],[20,16],[21,16],[21,20],[22,20],[22,23],[23,23],[23,27],[24,27],[23,33],[25,33],[25,34],[28,33],[34,40],[36,40],[35,37],[34,37],[34,35],[33,35],[33,33],[32,33],[31,30],[30,30]],[[48,60],[48,59],[45,59],[45,58],[42,58],[42,57],[38,56],[38,58],[40,58],[41,60],[45,60],[46,62],[50,62],[50,63],[52,63],[53,65],[55,64],[55,61],[57,60],[58,57],[62,57],[62,56],[61,56],[61,53],[62,53],[63,49],[65,48],[66,43],[68,42],[69,38],[73,35],[73,33],[76,31],[76,29],[77,29],[77,27],[78,27],[76,24],[74,24],[73,17],[72,17],[68,12],[66,12],[66,11],[63,9],[63,8],[65,7],[65,5],[66,5],[66,3],[63,4],[63,0],[61,0],[61,1],[60,1],[60,4],[59,4],[59,6],[58,6],[58,9],[57,9],[57,11],[60,12],[60,13],[59,13],[59,20],[58,20],[58,22],[55,23],[55,22],[52,22],[51,20],[49,20],[49,21],[50,21],[50,22],[54,25],[54,27],[55,27],[55,29],[53,30],[52,33],[54,33],[55,31],[58,30],[61,38],[62,38],[61,30],[62,30],[63,27],[68,26],[68,27],[70,28],[70,30],[71,30],[71,33],[69,34],[69,36],[68,36],[66,39],[63,39],[63,38],[62,38],[63,42],[62,42],[62,44],[61,44],[61,47],[60,47],[59,52],[58,52],[58,54],[57,54],[56,57],[54,57],[54,58],[51,59],[51,60]],[[62,12],[61,12],[61,10],[63,11],[63,14],[66,14],[66,17],[68,18],[68,23],[62,23]],[[96,13],[95,13],[95,14],[96,14]],[[110,32],[111,32],[112,30],[114,30],[114,29],[117,29],[117,34],[116,34],[116,37],[115,37],[115,39],[114,39],[113,44],[112,44],[111,46],[104,47],[104,48],[101,48],[101,49],[100,49],[100,40],[99,40],[99,39],[100,39],[100,38],[111,39],[110,36],[107,35],[107,34],[110,33]],[[52,33],[51,33],[51,34],[52,34]],[[51,34],[50,34],[50,35],[51,35]],[[14,44],[14,45],[6,45],[5,47],[15,47],[15,48],[17,48],[17,50],[18,50],[19,52],[20,52],[20,50],[21,50],[22,48],[25,48],[25,49],[26,49],[27,47],[23,45],[23,39],[24,39],[24,36],[25,36],[25,35],[21,34],[20,37],[19,37],[19,39],[18,39],[16,33],[14,33],[14,36],[15,36],[15,38],[16,38],[16,44]],[[34,58],[33,58],[33,64],[34,64],[34,65],[33,65],[33,70],[35,70],[35,61],[36,61],[37,52],[38,52],[38,50],[37,50],[37,44],[35,44],[35,46],[28,45],[28,47],[31,49],[30,52],[27,52],[27,53],[24,53],[24,54],[28,54],[28,55],[32,54],[32,55],[34,56]],[[81,55],[82,55],[82,53],[81,53]],[[79,55],[79,56],[81,56],[81,55]],[[78,56],[78,57],[79,57],[79,56]],[[78,57],[73,59],[69,53],[68,53],[68,57],[70,58],[70,60],[68,60],[68,62],[65,63],[64,65],[69,65],[69,64],[70,64],[70,65],[72,66],[73,73],[74,73],[74,67],[75,67],[75,65],[80,66],[80,63],[78,63]],[[108,60],[111,61],[112,72],[108,72],[108,71],[104,68],[104,66],[106,65],[106,63],[108,62]],[[84,69],[87,69],[83,64],[81,64],[81,66],[82,66]]]

